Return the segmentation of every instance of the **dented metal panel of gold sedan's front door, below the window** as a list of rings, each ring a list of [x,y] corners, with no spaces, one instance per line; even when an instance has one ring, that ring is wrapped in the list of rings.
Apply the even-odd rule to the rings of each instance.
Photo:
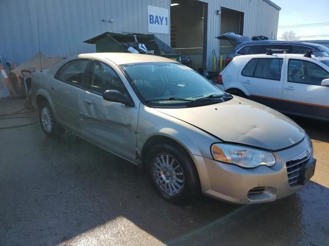
[[[79,108],[85,138],[126,159],[135,160],[137,107],[106,101],[100,95],[84,91],[79,98]]]

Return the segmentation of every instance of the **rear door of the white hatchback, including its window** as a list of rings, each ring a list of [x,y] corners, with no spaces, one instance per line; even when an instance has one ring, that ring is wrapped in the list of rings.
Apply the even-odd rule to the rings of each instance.
[[[238,75],[240,82],[251,95],[251,99],[274,109],[280,109],[283,87],[281,73],[283,59],[252,58]]]

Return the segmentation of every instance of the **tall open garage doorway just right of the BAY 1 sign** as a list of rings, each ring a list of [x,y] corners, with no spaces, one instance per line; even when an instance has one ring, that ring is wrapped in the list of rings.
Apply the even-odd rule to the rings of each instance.
[[[205,68],[208,4],[197,0],[172,0],[170,13],[171,46],[191,59],[188,64],[191,68]]]

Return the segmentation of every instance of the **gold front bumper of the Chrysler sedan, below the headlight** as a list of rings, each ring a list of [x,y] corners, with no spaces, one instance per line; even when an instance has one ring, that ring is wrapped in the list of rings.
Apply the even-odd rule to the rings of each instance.
[[[197,161],[204,194],[233,203],[260,203],[283,198],[303,187],[289,185],[286,162],[306,148],[306,142],[303,141],[298,146],[274,153],[277,162],[270,168],[260,166],[244,169],[202,156],[193,158]],[[308,161],[312,160],[310,156]]]

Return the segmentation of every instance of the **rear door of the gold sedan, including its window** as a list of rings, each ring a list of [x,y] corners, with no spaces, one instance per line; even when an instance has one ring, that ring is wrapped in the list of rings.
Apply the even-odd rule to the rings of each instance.
[[[76,132],[79,116],[78,98],[88,59],[68,61],[54,78],[49,80],[48,91],[53,99],[57,120],[68,130]]]

